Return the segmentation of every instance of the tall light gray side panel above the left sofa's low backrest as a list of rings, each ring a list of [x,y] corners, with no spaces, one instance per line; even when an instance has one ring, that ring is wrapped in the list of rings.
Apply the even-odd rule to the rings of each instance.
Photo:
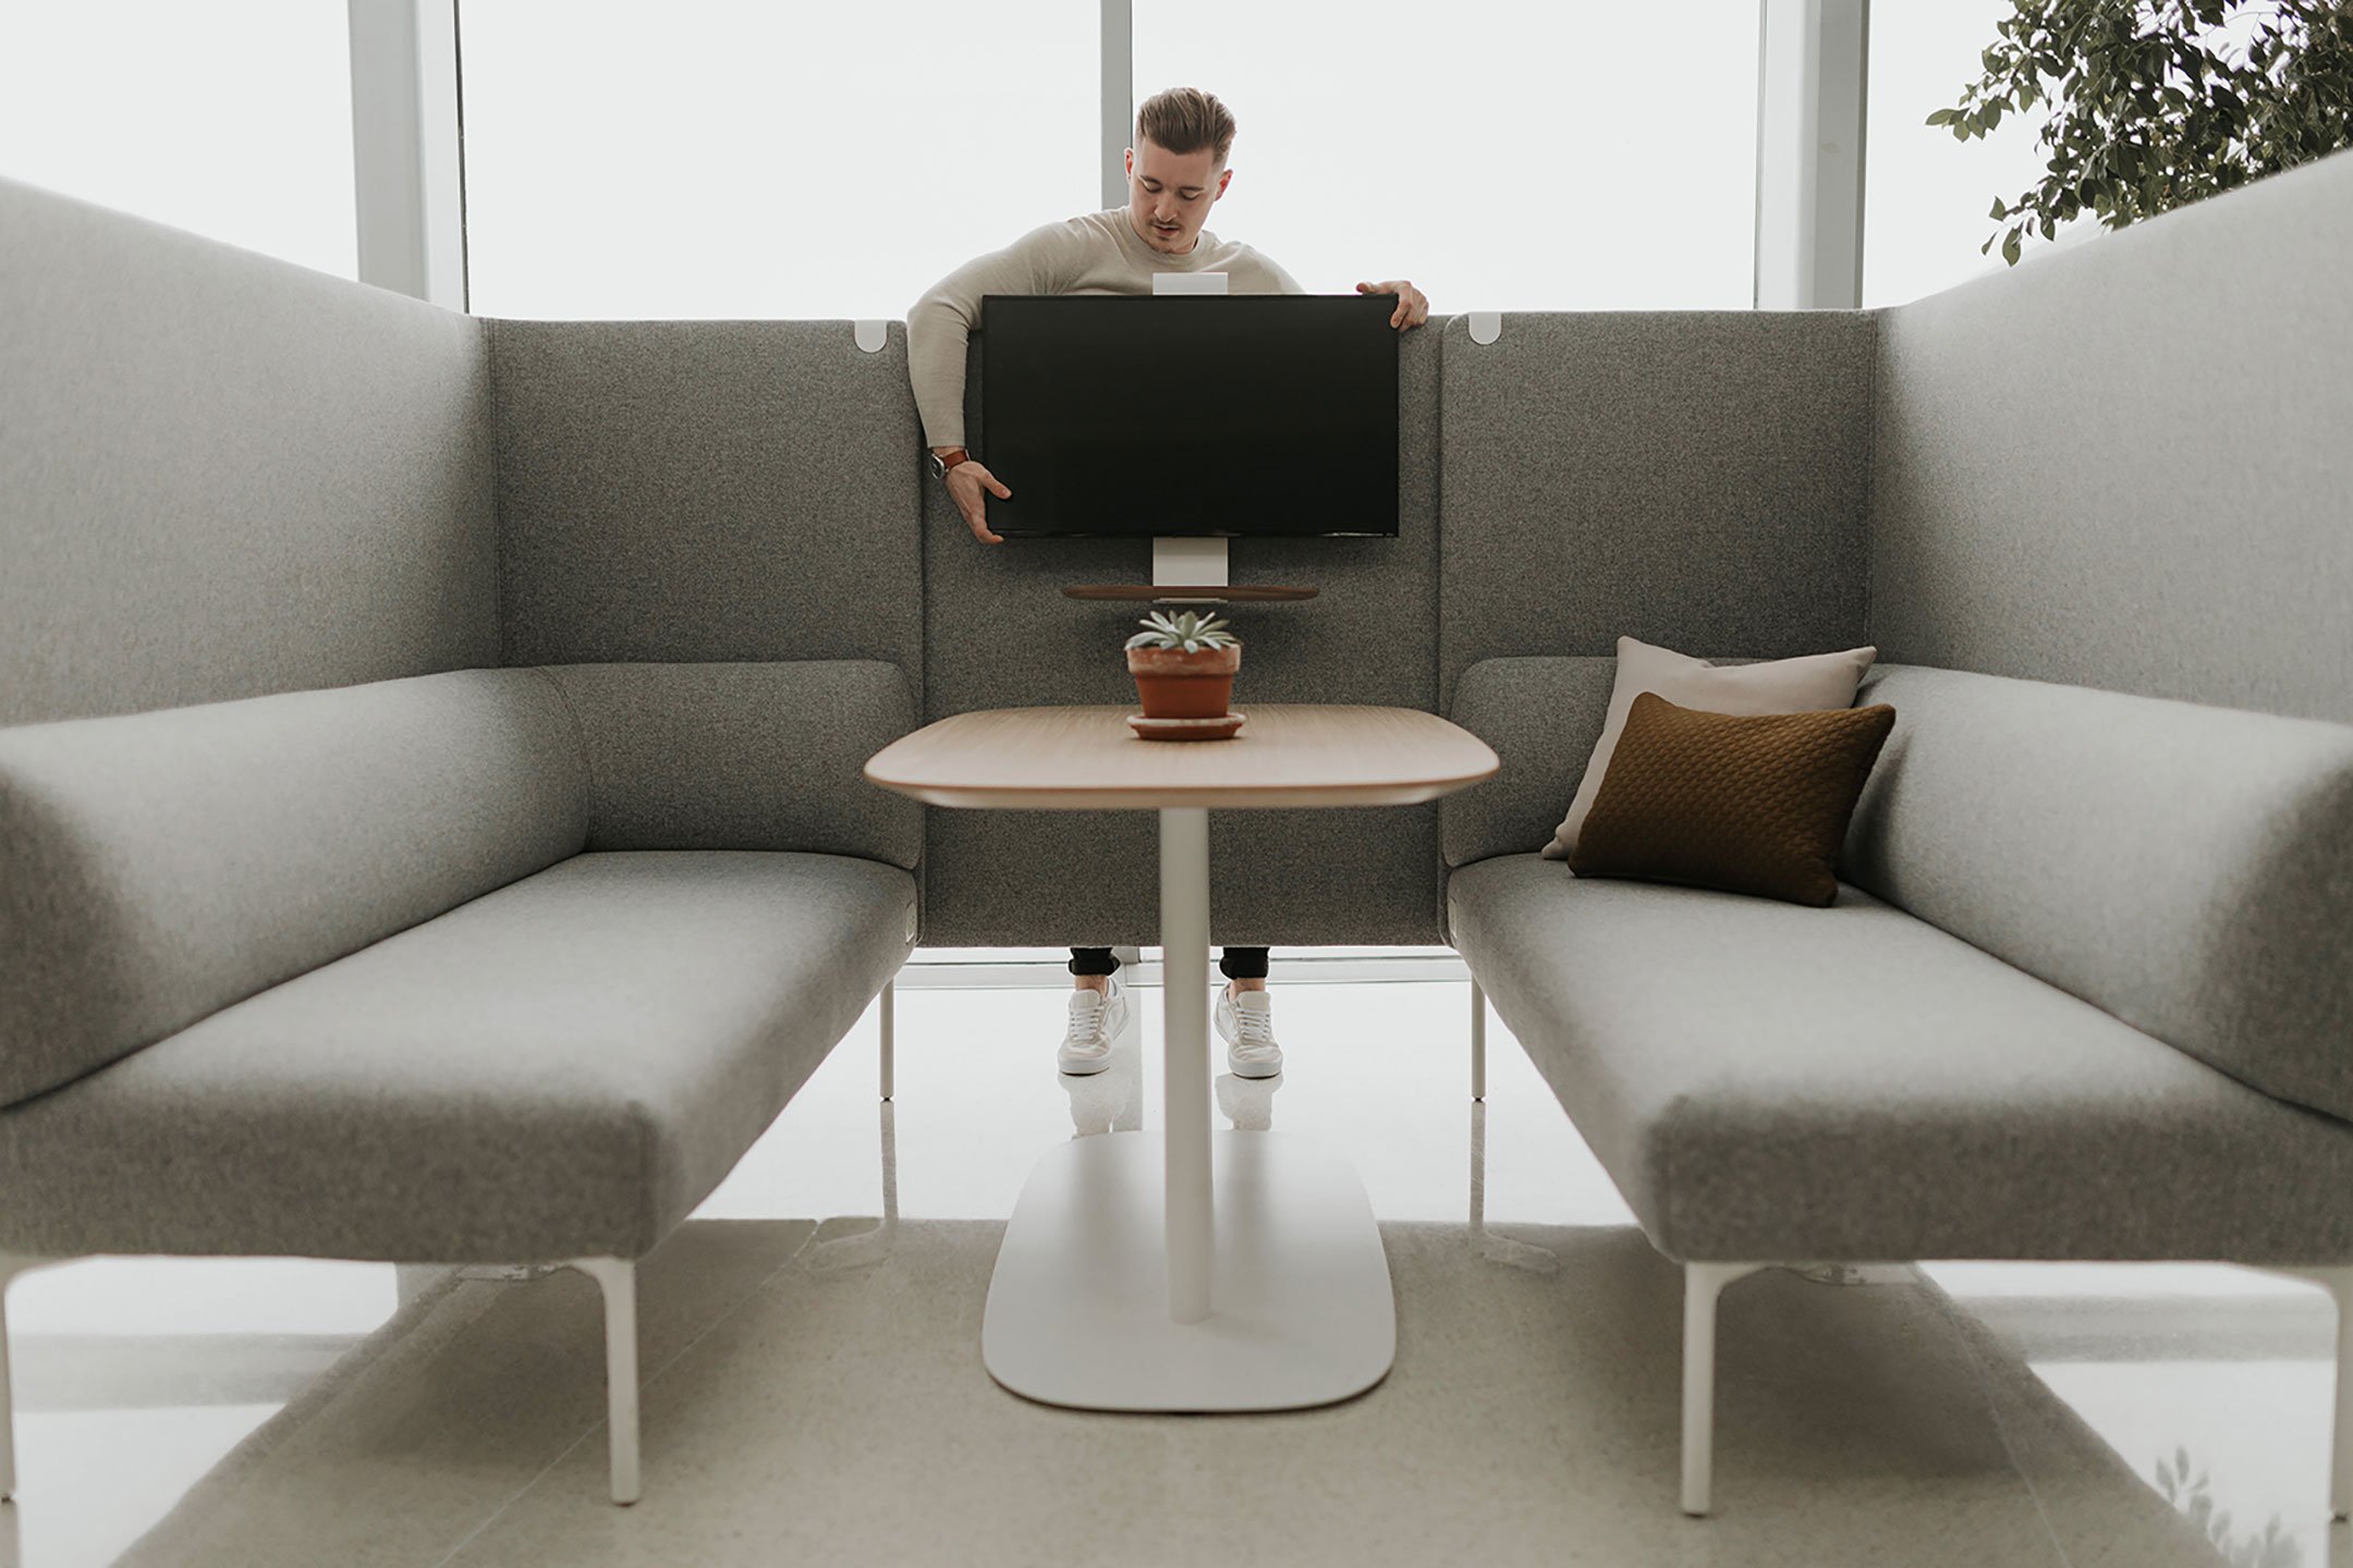
[[[0,724],[499,661],[482,324],[0,179]]]

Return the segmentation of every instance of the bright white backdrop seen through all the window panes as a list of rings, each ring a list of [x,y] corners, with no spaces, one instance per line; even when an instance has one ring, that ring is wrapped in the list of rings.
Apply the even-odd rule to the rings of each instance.
[[[1927,127],[2007,0],[1878,0],[1864,303],[2000,270],[2040,113]],[[0,0],[0,174],[353,275],[341,0]],[[904,315],[1092,209],[1096,0],[464,0],[496,315]],[[1209,228],[1438,310],[1744,308],[1758,0],[1134,0],[1134,85],[1238,113]],[[2075,235],[2089,237],[2092,223]],[[2035,254],[2035,247],[2028,247]]]

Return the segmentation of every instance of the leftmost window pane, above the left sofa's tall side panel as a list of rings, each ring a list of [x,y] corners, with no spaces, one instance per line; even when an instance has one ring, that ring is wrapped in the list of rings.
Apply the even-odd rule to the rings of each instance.
[[[353,277],[344,5],[5,5],[0,176]]]

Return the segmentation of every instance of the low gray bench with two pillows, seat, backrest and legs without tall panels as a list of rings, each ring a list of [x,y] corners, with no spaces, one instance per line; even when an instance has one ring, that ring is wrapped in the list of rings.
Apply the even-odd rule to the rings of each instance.
[[[1558,780],[1612,668],[1489,661],[1457,717]],[[2228,1260],[2353,1316],[2353,726],[1920,668],[1857,703],[1897,731],[1828,910],[1534,853],[1447,879],[1475,985],[1685,1267],[1689,1514],[1715,1298],[1769,1262]]]

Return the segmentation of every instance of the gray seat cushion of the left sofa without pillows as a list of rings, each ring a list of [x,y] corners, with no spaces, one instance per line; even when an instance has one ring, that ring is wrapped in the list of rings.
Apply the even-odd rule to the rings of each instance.
[[[0,1251],[638,1258],[913,922],[873,860],[574,856],[0,1112]]]

